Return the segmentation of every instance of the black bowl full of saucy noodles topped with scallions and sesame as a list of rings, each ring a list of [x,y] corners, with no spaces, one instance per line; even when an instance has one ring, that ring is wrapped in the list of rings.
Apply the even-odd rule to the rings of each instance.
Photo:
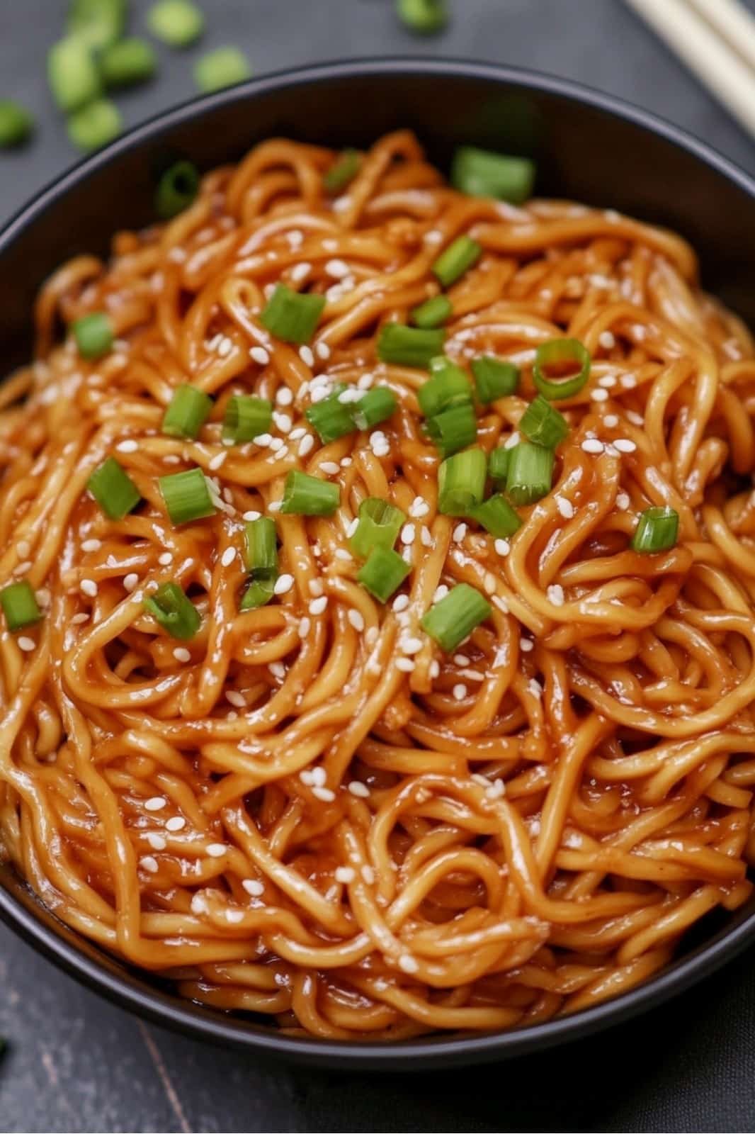
[[[365,1067],[743,948],[754,234],[675,128],[426,60],[196,101],[23,210],[3,917],[162,1024]]]

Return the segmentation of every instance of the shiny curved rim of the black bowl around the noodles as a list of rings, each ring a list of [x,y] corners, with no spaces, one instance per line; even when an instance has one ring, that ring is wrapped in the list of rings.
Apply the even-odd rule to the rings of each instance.
[[[211,95],[189,99],[155,113],[103,150],[76,162],[62,176],[49,183],[31,201],[22,205],[0,229],[0,255],[57,200],[101,168],[118,161],[122,154],[143,145],[163,130],[184,125],[193,117],[211,113],[215,109],[237,102],[254,100],[281,87],[387,75],[451,76],[491,83],[502,82],[509,86],[554,94],[578,104],[589,105],[659,135],[715,169],[755,200],[755,178],[707,143],[651,111],[571,79],[527,68],[442,57],[354,58],[277,70]],[[63,971],[120,1007],[128,1008],[152,1023],[226,1047],[257,1050],[261,1055],[285,1057],[302,1064],[364,1070],[425,1070],[431,1067],[484,1063],[534,1050],[545,1050],[569,1039],[589,1035],[629,1019],[682,992],[735,957],[755,937],[755,909],[753,909],[735,925],[724,928],[712,940],[672,962],[636,988],[569,1016],[480,1035],[453,1033],[423,1036],[399,1043],[387,1041],[357,1043],[351,1040],[285,1035],[272,1027],[249,1024],[243,1018],[226,1016],[190,1001],[181,1002],[159,988],[147,988],[141,983],[136,970],[133,974],[128,967],[122,973],[116,973],[105,963],[100,963],[95,956],[88,955],[66,940],[51,924],[45,924],[33,913],[35,906],[41,905],[39,898],[31,890],[28,892],[29,900],[24,903],[0,885],[2,921]],[[96,950],[96,946],[91,946],[90,942],[87,945]]]

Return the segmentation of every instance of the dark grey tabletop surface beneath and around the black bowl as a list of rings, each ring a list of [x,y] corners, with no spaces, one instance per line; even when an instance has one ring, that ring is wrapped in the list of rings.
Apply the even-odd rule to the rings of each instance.
[[[658,0],[659,3],[665,0]],[[755,0],[748,0],[755,9]],[[133,28],[147,5],[134,2]],[[162,51],[126,122],[193,93],[192,58],[239,43],[257,74],[357,54],[491,59],[580,79],[650,108],[748,170],[755,147],[620,0],[456,0],[414,40],[390,0],[205,0],[201,49]],[[0,98],[39,121],[0,156],[0,223],[75,154],[42,81],[65,0],[0,0]],[[0,305],[1,311],[1,305]],[[1,315],[0,315],[1,318]],[[146,1026],[0,928],[2,1131],[752,1131],[755,950],[665,1008],[602,1036],[480,1069],[341,1075],[261,1063]]]

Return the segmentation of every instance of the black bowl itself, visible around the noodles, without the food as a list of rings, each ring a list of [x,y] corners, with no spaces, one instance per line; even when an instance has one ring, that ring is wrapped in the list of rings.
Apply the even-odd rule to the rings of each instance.
[[[153,219],[154,177],[170,156],[211,168],[273,135],[366,146],[397,127],[416,130],[441,167],[459,143],[531,154],[538,194],[675,228],[696,247],[706,288],[755,325],[755,181],[707,146],[563,79],[472,62],[367,60],[286,71],[178,107],[44,189],[0,234],[3,369],[29,355],[44,277],[68,256],[105,252],[114,229]],[[754,902],[697,926],[673,964],[597,1007],[509,1032],[356,1044],[285,1036],[179,999],[62,925],[8,868],[0,868],[0,914],[73,975],[155,1023],[302,1063],[371,1069],[481,1063],[585,1035],[688,989],[755,940]]]

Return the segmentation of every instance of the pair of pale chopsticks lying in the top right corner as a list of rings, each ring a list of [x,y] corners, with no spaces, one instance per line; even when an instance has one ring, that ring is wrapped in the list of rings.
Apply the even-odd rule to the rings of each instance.
[[[755,16],[739,0],[626,0],[755,136]]]

